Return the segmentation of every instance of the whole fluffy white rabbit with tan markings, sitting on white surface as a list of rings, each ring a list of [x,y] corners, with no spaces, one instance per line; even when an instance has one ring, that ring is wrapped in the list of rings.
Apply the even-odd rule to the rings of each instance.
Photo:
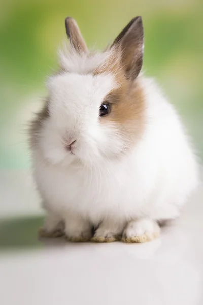
[[[76,21],[31,123],[33,176],[46,211],[42,236],[142,243],[160,236],[198,185],[179,115],[141,72],[144,31],[133,18],[104,51],[89,51]]]

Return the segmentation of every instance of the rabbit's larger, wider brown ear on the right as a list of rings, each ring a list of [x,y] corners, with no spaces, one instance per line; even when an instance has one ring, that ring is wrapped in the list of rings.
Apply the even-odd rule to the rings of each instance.
[[[129,79],[135,79],[143,64],[144,31],[141,17],[133,18],[116,37],[111,47],[122,51],[122,64]]]

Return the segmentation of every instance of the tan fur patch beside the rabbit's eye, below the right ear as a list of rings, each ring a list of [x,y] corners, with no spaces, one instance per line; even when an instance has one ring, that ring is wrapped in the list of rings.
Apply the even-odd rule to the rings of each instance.
[[[139,78],[134,81],[127,78],[119,49],[112,52],[112,57],[93,73],[94,75],[112,73],[118,85],[118,88],[105,97],[104,103],[110,104],[111,112],[101,117],[100,121],[104,124],[108,121],[115,123],[119,133],[126,140],[126,148],[130,148],[142,135],[144,129],[144,89]]]

